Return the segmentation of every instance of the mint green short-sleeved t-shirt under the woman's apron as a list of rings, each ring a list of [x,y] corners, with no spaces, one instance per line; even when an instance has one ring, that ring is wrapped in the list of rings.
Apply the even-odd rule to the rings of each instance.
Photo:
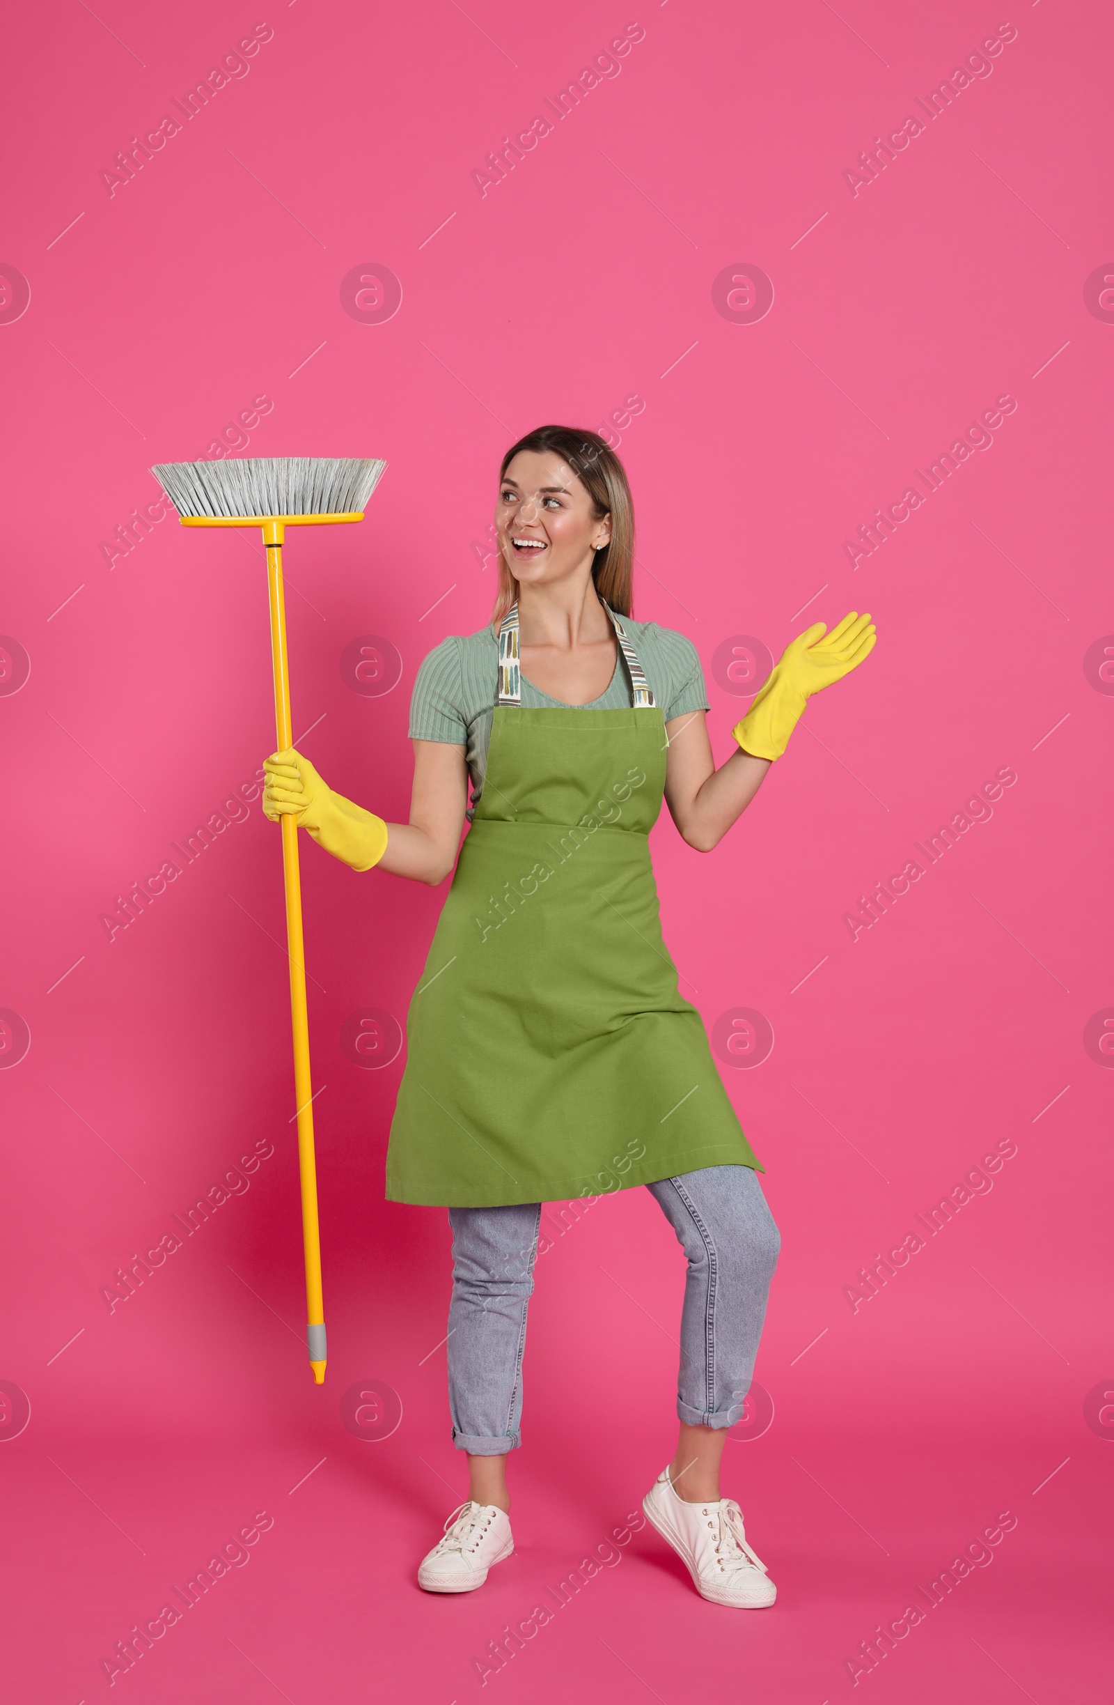
[[[649,680],[654,702],[661,706],[666,721],[692,711],[707,711],[700,656],[692,639],[673,627],[657,622],[635,622],[622,617],[623,627]],[[475,634],[450,634],[422,658],[411,696],[411,740],[441,740],[446,745],[467,748],[472,776],[472,803],[468,818],[475,813],[484,791],[487,769],[487,743],[491,720],[497,697],[499,644],[491,627]],[[612,711],[630,704],[630,680],[622,651],[615,658],[615,673],[605,694],[591,704],[562,706],[550,699],[526,677],[521,677],[521,702],[528,709],[560,706],[562,709]]]

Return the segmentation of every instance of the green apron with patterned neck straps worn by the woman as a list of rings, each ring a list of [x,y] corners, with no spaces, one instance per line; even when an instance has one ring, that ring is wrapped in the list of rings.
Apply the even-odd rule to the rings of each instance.
[[[630,709],[523,709],[518,605],[499,629],[484,789],[407,1014],[392,1202],[499,1207],[761,1171],[661,938],[647,835],[664,720],[608,614]]]

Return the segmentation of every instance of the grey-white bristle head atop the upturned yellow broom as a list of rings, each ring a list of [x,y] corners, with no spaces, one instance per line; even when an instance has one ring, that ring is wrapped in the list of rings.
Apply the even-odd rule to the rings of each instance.
[[[179,515],[351,515],[366,506],[385,467],[375,457],[259,455],[162,462],[152,474]]]

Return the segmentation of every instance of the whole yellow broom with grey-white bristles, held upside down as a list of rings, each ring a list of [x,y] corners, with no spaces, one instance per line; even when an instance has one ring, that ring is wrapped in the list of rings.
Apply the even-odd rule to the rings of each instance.
[[[387,462],[337,457],[244,457],[225,462],[167,462],[152,469],[182,527],[262,527],[267,547],[271,602],[271,662],[274,668],[274,731],[278,750],[293,745],[290,672],[286,665],[286,607],[283,600],[283,535],[286,527],[322,527],[361,522]],[[290,950],[290,1018],[295,1040],[295,1107],[298,1117],[298,1171],[301,1176],[301,1243],[305,1250],[307,1347],[313,1379],[325,1379],[325,1313],[320,1284],[320,1231],[317,1222],[317,1166],[313,1159],[313,1086],[310,1079],[310,1026],[305,1004],[305,948],[301,941],[301,885],[298,881],[298,825],[283,817],[283,880],[286,887],[286,943]]]

